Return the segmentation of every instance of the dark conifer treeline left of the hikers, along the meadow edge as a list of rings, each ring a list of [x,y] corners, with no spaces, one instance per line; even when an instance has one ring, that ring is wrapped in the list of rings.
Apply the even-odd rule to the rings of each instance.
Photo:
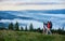
[[[24,29],[25,28],[25,29]],[[42,29],[37,28],[35,29],[32,24],[29,25],[29,27],[25,26],[25,27],[20,27],[18,23],[16,22],[15,24],[10,23],[9,26],[5,28],[4,26],[0,27],[0,30],[15,30],[15,31],[38,31],[38,32],[42,32]]]

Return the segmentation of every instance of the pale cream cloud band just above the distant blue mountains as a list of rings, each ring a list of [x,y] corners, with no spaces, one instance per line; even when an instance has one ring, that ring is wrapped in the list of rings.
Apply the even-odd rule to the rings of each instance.
[[[65,9],[64,4],[48,4],[48,5],[1,5],[0,11],[20,11],[20,10],[58,10]]]

